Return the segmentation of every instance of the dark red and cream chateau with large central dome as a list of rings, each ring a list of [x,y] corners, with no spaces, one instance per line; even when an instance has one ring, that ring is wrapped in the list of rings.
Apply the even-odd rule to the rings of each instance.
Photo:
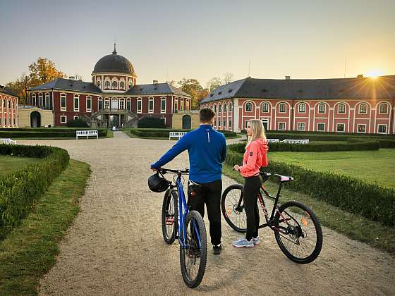
[[[186,92],[157,80],[138,85],[137,77],[132,63],[117,54],[114,44],[112,54],[97,61],[92,82],[57,78],[32,87],[29,103],[52,111],[55,126],[80,118],[94,128],[135,127],[144,116],[162,118],[165,126],[171,127],[172,113],[190,110],[191,97]],[[31,125],[44,126],[41,113],[37,110],[35,114],[30,114]]]

